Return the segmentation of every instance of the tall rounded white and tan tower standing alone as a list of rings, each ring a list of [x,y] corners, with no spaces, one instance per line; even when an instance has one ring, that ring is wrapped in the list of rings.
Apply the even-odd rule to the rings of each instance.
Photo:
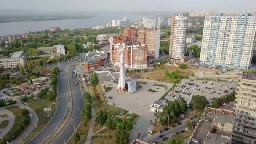
[[[183,15],[171,18],[171,35],[169,56],[173,62],[182,62],[186,48],[187,17]]]

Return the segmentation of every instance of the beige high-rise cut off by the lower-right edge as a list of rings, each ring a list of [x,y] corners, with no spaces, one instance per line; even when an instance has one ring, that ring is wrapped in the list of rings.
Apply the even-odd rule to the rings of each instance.
[[[256,74],[243,73],[237,83],[232,144],[256,144]]]

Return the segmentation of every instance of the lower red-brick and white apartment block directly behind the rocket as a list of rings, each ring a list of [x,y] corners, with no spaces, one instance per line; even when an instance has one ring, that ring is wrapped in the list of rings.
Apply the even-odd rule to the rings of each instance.
[[[126,45],[125,43],[118,43],[112,45],[110,49],[112,65],[120,65],[122,47],[126,68],[144,69],[147,67],[147,46],[145,44]]]

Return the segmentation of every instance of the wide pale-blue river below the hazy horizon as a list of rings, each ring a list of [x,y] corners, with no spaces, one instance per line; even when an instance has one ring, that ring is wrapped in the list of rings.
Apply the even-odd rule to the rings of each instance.
[[[98,13],[95,14],[95,17],[87,19],[8,22],[0,23],[0,36],[41,31],[50,27],[60,27],[61,29],[95,27],[97,25],[107,25],[107,23],[112,23],[112,20],[121,20],[123,17],[129,17],[131,21],[142,19],[142,16],[131,13]]]

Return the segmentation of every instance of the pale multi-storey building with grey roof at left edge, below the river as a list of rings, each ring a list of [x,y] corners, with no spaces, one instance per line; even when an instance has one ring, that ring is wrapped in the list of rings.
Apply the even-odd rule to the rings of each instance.
[[[0,66],[3,66],[4,69],[12,69],[17,67],[24,66],[27,61],[27,51],[17,51],[10,54],[11,57],[0,58]]]

